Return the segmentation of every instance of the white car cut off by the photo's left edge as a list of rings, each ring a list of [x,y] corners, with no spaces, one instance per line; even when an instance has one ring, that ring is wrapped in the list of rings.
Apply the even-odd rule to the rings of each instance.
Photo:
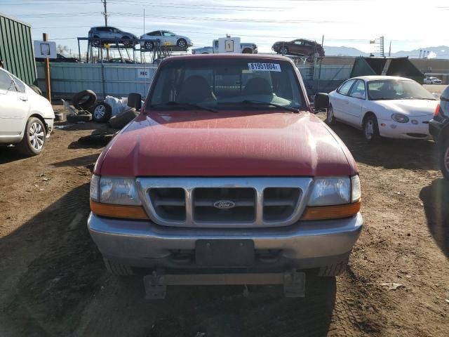
[[[40,154],[54,118],[46,98],[0,68],[0,145],[15,144],[28,156]]]

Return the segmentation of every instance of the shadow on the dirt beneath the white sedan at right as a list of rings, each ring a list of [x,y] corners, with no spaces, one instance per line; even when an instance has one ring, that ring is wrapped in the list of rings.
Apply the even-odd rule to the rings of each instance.
[[[439,169],[437,147],[430,140],[382,138],[379,143],[370,145],[356,128],[337,123],[332,129],[359,163],[385,169]]]

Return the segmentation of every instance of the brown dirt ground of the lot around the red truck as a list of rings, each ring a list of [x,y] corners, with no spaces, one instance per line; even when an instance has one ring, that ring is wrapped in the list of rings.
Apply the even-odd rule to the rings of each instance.
[[[140,277],[107,274],[86,228],[102,146],[76,140],[96,127],[56,129],[39,157],[0,148],[0,336],[449,336],[449,183],[433,142],[370,146],[334,127],[358,162],[365,227],[344,276],[307,279],[306,298],[189,286],[148,301]]]

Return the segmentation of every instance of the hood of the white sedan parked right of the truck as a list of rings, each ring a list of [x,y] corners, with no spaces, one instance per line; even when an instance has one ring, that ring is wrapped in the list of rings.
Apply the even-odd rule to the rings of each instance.
[[[391,113],[406,114],[408,117],[433,116],[438,100],[377,100],[378,105]]]

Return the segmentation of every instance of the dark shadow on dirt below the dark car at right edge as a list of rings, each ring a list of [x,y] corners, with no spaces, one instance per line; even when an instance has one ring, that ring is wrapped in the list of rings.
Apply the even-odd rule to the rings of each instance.
[[[436,179],[420,192],[427,227],[441,251],[449,258],[449,181]]]

